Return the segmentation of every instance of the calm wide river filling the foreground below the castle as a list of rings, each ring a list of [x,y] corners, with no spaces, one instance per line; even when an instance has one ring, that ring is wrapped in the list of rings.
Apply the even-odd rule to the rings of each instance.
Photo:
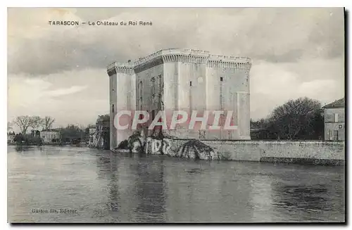
[[[8,222],[344,222],[344,167],[8,146]]]

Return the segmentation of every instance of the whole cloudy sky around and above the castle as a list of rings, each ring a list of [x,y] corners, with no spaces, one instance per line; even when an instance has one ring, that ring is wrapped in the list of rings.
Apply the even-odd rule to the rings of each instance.
[[[151,26],[49,25],[49,20]],[[302,96],[344,96],[343,8],[8,8],[8,120],[49,115],[54,127],[109,111],[106,66],[160,49],[252,59],[251,118]]]

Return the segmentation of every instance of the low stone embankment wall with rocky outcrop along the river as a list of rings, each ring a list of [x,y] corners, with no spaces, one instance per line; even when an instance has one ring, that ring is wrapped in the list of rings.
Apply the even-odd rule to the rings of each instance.
[[[198,141],[148,138],[144,153],[199,160],[345,165],[344,141]]]

